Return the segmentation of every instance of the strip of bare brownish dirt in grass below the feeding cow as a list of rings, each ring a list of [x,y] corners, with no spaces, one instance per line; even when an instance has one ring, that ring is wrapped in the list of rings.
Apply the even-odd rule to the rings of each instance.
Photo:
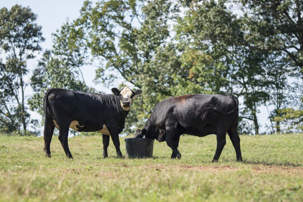
[[[144,166],[145,168],[153,168],[158,171],[165,171],[168,169],[179,169],[179,170],[195,170],[199,172],[210,171],[210,172],[234,172],[240,170],[248,170],[253,173],[284,173],[284,174],[299,174],[303,175],[303,168],[301,167],[287,167],[287,166],[265,166],[265,165],[253,165],[250,167],[234,167],[231,165],[218,165],[218,166],[192,166],[192,165],[180,165],[180,166],[164,166],[164,165],[153,165]]]

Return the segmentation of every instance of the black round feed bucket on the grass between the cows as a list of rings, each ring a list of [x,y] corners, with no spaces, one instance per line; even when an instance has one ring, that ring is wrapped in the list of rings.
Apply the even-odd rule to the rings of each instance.
[[[153,139],[150,138],[125,138],[125,151],[128,157],[152,157]]]

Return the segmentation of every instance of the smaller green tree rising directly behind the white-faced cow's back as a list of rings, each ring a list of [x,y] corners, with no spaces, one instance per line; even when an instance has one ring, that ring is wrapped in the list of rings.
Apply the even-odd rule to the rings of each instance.
[[[86,47],[78,41],[80,36],[83,32],[75,30],[68,22],[53,34],[52,50],[44,52],[31,77],[31,86],[36,92],[28,101],[31,110],[44,114],[43,98],[50,88],[97,93],[85,84],[80,68],[87,64],[88,59]]]

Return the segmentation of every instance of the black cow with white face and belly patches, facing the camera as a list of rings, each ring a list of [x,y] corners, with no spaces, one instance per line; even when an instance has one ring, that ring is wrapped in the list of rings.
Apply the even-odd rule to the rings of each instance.
[[[122,132],[132,100],[142,91],[132,91],[125,87],[121,92],[112,88],[114,95],[91,94],[65,89],[50,89],[44,96],[44,151],[50,157],[50,141],[53,129],[59,130],[58,139],[68,158],[72,155],[68,148],[69,128],[76,131],[102,133],[103,157],[107,157],[109,136],[116,148],[120,151],[119,133]]]

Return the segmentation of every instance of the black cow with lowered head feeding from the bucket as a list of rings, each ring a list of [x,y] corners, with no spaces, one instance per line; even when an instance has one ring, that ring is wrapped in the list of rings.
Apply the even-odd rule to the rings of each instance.
[[[239,101],[228,95],[185,95],[167,98],[159,102],[142,130],[134,138],[154,138],[166,141],[172,149],[171,158],[181,158],[177,150],[182,134],[203,137],[217,135],[217,161],[226,144],[228,133],[236,150],[237,160],[242,161],[238,135]]]

